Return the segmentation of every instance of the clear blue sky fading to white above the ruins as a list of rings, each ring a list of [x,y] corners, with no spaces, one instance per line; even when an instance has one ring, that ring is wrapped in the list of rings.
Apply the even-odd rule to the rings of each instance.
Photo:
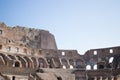
[[[120,46],[120,0],[0,0],[0,22],[49,30],[59,49]]]

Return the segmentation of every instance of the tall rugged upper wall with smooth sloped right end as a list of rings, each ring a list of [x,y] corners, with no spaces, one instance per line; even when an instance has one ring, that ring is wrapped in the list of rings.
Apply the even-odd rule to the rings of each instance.
[[[6,42],[21,43],[38,49],[57,49],[54,36],[45,30],[20,26],[8,27],[0,23],[0,31],[2,33],[0,38],[6,39]]]

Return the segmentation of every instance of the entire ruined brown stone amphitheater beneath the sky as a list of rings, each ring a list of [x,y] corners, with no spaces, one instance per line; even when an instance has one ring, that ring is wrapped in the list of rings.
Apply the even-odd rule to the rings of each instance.
[[[80,55],[48,31],[0,23],[0,80],[120,80],[120,47]]]

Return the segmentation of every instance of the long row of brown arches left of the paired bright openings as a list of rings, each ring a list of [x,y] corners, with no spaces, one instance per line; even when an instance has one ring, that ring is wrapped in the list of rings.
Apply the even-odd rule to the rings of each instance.
[[[0,53],[0,64],[8,67],[23,68],[83,68],[83,61],[77,59],[61,59],[61,58],[44,58],[44,57],[27,57],[19,55],[10,55]]]

